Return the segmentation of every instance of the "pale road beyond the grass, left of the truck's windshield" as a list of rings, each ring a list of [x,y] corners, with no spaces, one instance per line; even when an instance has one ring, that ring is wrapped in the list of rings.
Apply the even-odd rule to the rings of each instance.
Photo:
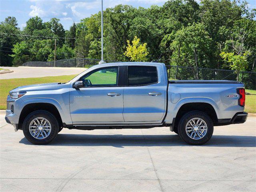
[[[79,74],[86,68],[74,67],[0,67],[10,69],[13,73],[0,74],[0,79],[46,77]]]

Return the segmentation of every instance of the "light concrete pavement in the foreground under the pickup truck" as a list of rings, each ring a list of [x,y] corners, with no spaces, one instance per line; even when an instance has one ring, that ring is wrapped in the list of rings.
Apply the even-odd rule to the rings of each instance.
[[[203,146],[168,128],[64,129],[36,146],[0,115],[1,192],[249,192],[256,188],[256,118],[216,127]]]

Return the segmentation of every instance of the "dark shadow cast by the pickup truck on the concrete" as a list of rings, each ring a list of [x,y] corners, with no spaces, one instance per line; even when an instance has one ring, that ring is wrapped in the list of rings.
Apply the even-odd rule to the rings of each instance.
[[[26,138],[20,143],[32,145]],[[189,146],[178,135],[93,135],[58,134],[50,146]],[[49,146],[48,145],[48,146]],[[255,147],[255,136],[214,135],[204,146],[212,147]]]

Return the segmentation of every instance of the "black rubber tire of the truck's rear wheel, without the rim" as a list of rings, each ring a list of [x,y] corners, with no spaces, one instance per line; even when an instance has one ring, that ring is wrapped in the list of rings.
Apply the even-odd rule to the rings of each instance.
[[[202,134],[200,134],[200,130],[198,132],[197,130],[196,131],[194,130],[195,128],[193,128],[193,131],[192,131],[192,132],[194,132],[193,136],[196,135],[196,137],[199,138],[197,140],[190,138],[190,136],[188,136],[188,134],[186,133],[186,124],[193,118],[201,118],[202,120],[204,120],[204,122],[207,125],[207,132],[202,138],[199,138],[200,136],[202,136]],[[196,128],[196,129],[198,129],[198,128]],[[196,133],[196,132],[198,132],[198,133]],[[182,118],[179,121],[178,133],[179,133],[180,137],[182,138],[182,140],[184,140],[186,143],[188,143],[190,145],[205,144],[206,142],[208,142],[210,140],[210,138],[212,137],[212,134],[213,134],[212,119],[206,113],[201,112],[201,111],[187,112],[186,114],[184,114],[182,116]]]

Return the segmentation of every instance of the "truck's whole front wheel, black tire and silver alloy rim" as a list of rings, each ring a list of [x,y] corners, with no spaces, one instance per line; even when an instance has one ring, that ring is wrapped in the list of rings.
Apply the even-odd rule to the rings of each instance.
[[[22,130],[26,139],[31,143],[45,145],[56,138],[59,124],[50,112],[36,110],[25,118]]]

